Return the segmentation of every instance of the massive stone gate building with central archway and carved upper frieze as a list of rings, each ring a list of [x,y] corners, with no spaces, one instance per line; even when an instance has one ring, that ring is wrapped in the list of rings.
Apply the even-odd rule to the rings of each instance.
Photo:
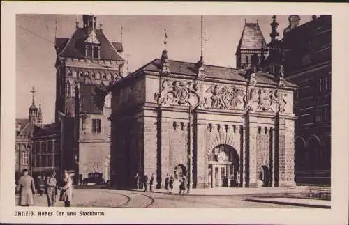
[[[294,182],[293,93],[279,76],[154,59],[112,86],[112,185],[185,175],[188,187]]]

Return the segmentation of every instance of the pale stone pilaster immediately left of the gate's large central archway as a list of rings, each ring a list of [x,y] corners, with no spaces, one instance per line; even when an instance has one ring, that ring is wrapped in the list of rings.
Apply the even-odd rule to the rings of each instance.
[[[195,121],[194,135],[194,154],[193,166],[195,166],[195,173],[193,174],[194,186],[198,188],[207,187],[207,162],[206,162],[206,121]]]

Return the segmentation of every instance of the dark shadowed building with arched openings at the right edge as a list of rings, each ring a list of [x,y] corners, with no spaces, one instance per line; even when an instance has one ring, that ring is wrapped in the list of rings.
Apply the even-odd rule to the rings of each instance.
[[[298,26],[290,16],[284,31],[285,77],[299,86],[295,95],[297,183],[331,183],[331,16],[313,16]]]

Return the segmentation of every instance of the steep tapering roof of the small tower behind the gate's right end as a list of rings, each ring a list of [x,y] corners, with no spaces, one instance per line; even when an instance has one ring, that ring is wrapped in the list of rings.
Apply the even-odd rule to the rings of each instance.
[[[246,23],[242,31],[242,36],[237,45],[237,51],[239,49],[262,49],[266,46],[266,42],[260,26],[257,23]]]

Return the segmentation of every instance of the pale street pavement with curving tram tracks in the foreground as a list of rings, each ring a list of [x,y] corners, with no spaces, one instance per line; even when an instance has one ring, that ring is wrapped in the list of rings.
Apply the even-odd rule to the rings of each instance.
[[[125,208],[305,208],[244,201],[246,196],[190,196],[179,194],[137,192],[110,189],[75,189],[72,207]],[[16,204],[18,196],[16,196]],[[47,198],[34,196],[36,206],[47,206]],[[64,207],[57,196],[57,207]]]

